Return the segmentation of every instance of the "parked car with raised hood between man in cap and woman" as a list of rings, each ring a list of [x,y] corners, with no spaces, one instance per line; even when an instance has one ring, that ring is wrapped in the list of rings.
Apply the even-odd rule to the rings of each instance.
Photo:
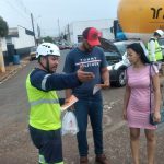
[[[126,47],[132,43],[140,43],[145,54],[148,50],[141,40],[122,40],[122,42],[110,42],[101,38],[102,48],[104,49],[106,60],[108,62],[108,70],[110,74],[110,83],[116,86],[124,86],[126,84],[125,70],[130,65],[127,59]]]

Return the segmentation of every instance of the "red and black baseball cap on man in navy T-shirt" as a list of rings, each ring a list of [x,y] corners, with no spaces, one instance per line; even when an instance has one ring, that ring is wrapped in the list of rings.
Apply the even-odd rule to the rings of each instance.
[[[82,35],[83,38],[85,38],[91,46],[101,45],[101,42],[98,39],[98,37],[101,37],[101,32],[98,32],[96,28],[87,27],[83,31]]]

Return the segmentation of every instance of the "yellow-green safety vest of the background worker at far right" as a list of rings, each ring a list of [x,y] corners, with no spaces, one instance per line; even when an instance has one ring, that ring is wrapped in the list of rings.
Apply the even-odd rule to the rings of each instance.
[[[162,49],[159,45],[159,42],[155,39],[155,59],[157,60],[162,60],[163,59],[163,55],[162,55]],[[148,51],[149,51],[149,59],[151,60],[151,51],[150,51],[150,42],[148,43]]]

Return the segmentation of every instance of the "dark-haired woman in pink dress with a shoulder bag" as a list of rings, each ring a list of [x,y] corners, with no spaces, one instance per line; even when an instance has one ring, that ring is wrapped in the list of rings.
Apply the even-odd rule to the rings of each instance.
[[[139,139],[140,129],[144,129],[147,138],[148,164],[154,164],[155,129],[149,124],[150,115],[150,84],[153,91],[151,98],[154,120],[160,121],[160,80],[159,70],[150,65],[140,44],[134,43],[127,47],[127,57],[131,66],[127,69],[127,85],[124,98],[124,119],[130,129],[130,145],[134,164],[140,164]]]

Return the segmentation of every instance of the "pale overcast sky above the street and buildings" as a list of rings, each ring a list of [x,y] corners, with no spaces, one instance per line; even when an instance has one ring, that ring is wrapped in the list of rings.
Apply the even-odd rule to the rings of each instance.
[[[43,36],[56,36],[75,21],[116,19],[119,0],[0,0],[0,16],[9,27],[32,30],[31,13]]]

